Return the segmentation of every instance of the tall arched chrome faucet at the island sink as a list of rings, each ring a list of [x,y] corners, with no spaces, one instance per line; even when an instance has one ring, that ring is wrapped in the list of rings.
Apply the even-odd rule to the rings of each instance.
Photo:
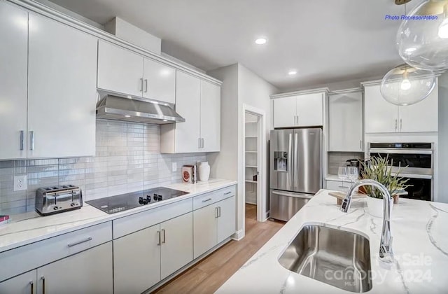
[[[372,186],[383,194],[383,230],[381,231],[381,242],[379,244],[379,260],[386,263],[393,262],[392,233],[391,233],[391,201],[392,197],[384,185],[374,180],[361,180],[353,183],[342,200],[341,211],[348,212],[351,204],[351,195],[356,188],[361,186]]]

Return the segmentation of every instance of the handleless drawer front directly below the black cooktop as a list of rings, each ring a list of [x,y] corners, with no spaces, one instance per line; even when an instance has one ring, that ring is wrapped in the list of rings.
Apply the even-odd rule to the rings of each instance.
[[[133,232],[149,228],[152,225],[162,223],[169,219],[187,214],[192,211],[191,199],[182,200],[172,204],[167,204],[163,207],[150,209],[147,211],[132,214],[132,216],[125,216],[113,221],[113,239],[129,235]]]

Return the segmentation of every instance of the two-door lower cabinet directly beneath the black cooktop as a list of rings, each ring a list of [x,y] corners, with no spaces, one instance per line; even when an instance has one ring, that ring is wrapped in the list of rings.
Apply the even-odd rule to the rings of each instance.
[[[192,212],[115,239],[114,293],[142,293],[192,260]]]

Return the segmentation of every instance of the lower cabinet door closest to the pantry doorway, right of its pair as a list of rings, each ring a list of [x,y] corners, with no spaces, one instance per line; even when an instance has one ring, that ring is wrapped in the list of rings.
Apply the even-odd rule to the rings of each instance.
[[[218,207],[218,226],[216,243],[220,243],[235,233],[235,196],[220,201]]]

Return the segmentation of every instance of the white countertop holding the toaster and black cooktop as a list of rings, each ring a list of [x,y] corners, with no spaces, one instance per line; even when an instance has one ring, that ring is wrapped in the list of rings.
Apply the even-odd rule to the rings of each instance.
[[[84,203],[84,206],[80,209],[51,216],[39,216],[36,212],[11,216],[11,223],[0,226],[0,252],[236,184],[235,181],[222,179],[209,179],[209,181],[195,184],[176,183],[167,186],[167,188],[185,191],[189,194],[127,211],[120,211],[116,214],[106,214]]]

